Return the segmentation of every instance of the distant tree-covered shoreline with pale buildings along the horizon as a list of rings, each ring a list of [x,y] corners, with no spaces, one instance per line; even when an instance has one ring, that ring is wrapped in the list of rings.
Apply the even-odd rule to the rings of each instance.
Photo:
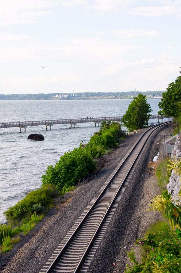
[[[0,100],[91,100],[91,99],[129,99],[139,93],[147,98],[160,98],[165,91],[128,92],[82,92],[82,93],[39,93],[39,94],[0,94]]]

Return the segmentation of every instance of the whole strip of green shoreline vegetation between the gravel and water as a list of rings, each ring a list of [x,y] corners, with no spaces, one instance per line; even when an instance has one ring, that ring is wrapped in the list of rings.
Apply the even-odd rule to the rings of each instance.
[[[56,197],[73,190],[79,183],[96,174],[98,161],[112,147],[117,147],[126,134],[118,122],[102,122],[90,142],[66,152],[42,176],[40,189],[31,191],[16,205],[4,212],[7,225],[0,226],[0,251],[8,252],[51,209]]]

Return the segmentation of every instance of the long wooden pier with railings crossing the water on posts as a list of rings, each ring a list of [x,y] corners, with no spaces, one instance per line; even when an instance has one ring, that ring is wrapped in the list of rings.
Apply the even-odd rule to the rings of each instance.
[[[161,119],[161,122],[163,120],[163,116],[160,115],[152,115],[150,116],[150,119]],[[81,118],[81,119],[51,119],[51,120],[34,120],[34,121],[16,121],[16,122],[2,122],[0,123],[0,129],[1,128],[12,128],[12,127],[19,127],[20,131],[21,128],[24,128],[24,130],[26,131],[27,127],[30,126],[46,126],[46,130],[47,127],[50,127],[50,130],[52,129],[53,125],[56,124],[70,124],[71,127],[72,125],[75,127],[76,123],[87,123],[87,122],[93,122],[96,126],[96,123],[99,124],[102,121],[118,121],[122,123],[122,116],[118,116],[118,117],[100,117],[100,118],[93,118],[93,117],[87,117],[87,118]]]

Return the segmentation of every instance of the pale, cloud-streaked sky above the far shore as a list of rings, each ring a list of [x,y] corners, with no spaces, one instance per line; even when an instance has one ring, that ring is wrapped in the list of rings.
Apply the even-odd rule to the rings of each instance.
[[[0,93],[166,90],[180,26],[181,0],[1,1]]]

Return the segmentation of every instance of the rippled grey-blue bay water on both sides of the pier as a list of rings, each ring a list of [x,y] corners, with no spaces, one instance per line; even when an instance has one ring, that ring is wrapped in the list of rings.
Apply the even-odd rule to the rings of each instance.
[[[159,99],[148,99],[152,114],[157,114]],[[0,100],[0,122],[46,119],[123,116],[131,99],[124,100]],[[156,122],[157,120],[154,120]],[[47,166],[55,165],[66,151],[87,143],[99,127],[94,123],[78,123],[20,129],[0,129],[0,223],[3,214],[28,192],[39,188]],[[44,141],[28,140],[30,134],[44,135]]]

